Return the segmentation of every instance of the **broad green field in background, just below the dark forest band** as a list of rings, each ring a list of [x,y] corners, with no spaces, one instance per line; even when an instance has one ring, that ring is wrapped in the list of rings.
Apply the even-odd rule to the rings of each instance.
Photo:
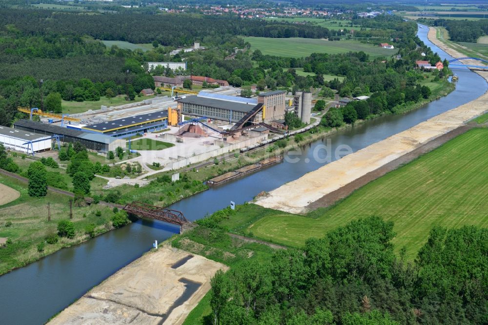
[[[364,51],[371,59],[390,57],[397,49],[389,50],[373,44],[365,44],[354,40],[325,41],[318,39],[289,38],[271,39],[265,37],[246,37],[244,41],[251,43],[251,49],[259,49],[264,55],[301,58],[312,53],[347,53]]]

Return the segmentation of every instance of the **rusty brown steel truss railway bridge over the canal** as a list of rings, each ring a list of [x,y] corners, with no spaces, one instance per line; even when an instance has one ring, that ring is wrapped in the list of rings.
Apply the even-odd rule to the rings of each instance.
[[[185,230],[191,229],[196,226],[194,223],[186,220],[186,218],[183,216],[183,212],[166,209],[160,206],[134,201],[132,203],[125,204],[123,209],[128,213],[132,213],[139,217],[155,219],[159,221],[164,221],[166,223],[179,225],[180,233],[183,233]]]

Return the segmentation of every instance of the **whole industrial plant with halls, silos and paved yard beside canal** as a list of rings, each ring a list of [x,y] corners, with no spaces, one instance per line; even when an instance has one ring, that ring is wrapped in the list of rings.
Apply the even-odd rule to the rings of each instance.
[[[270,91],[254,98],[236,95],[239,89],[224,86],[194,92],[164,88],[171,95],[115,107],[102,106],[80,114],[57,115],[39,108],[19,107],[29,120],[14,128],[64,142],[81,142],[87,149],[106,155],[117,147],[139,153],[137,161],[159,163],[163,170],[179,169],[229,152],[244,152],[292,134],[285,126],[285,113],[295,112],[310,122],[311,94],[286,97],[285,91]],[[289,94],[291,95],[291,94]],[[33,121],[39,116],[40,122]],[[131,140],[145,138],[174,144],[164,150],[131,148]],[[52,145],[52,148],[56,146]],[[147,169],[150,172],[151,170]]]

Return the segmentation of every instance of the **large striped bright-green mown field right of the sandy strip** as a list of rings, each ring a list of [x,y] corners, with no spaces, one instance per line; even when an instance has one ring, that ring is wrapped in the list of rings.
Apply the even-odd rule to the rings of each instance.
[[[255,204],[240,206],[221,222],[234,231],[299,247],[308,237],[351,220],[377,215],[395,223],[393,244],[413,259],[434,225],[488,226],[487,128],[476,128],[368,183],[343,201],[308,215],[293,215]]]

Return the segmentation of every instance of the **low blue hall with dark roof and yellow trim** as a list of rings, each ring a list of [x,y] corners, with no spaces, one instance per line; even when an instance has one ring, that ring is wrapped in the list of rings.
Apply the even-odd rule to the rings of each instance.
[[[85,132],[100,133],[116,138],[125,138],[136,133],[147,133],[167,127],[168,112],[155,112],[91,125],[70,126]]]

